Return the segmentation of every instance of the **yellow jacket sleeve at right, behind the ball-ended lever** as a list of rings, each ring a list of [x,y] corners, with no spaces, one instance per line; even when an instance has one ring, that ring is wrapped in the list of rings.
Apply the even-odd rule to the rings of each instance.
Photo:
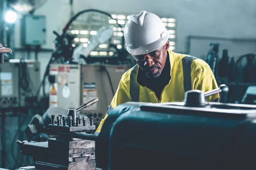
[[[206,92],[218,88],[214,74],[208,64],[202,65],[198,68],[198,71],[196,71],[192,77],[194,77],[194,79],[192,79],[192,89]],[[209,102],[214,102],[218,101],[219,97],[219,94],[215,94],[213,96],[206,97],[206,99]]]

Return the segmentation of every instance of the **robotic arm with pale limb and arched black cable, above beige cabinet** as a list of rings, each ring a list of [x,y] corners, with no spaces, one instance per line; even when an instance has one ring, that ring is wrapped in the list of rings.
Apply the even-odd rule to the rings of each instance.
[[[76,20],[81,14],[91,13],[91,12],[103,14],[108,18],[116,20],[111,16],[111,14],[108,14],[107,12],[96,10],[96,9],[87,9],[75,14],[64,26],[62,30],[62,34],[58,34],[56,31],[53,31],[53,33],[57,36],[54,41],[54,51],[55,51],[54,58],[56,61],[62,62],[62,63],[71,63],[71,64],[74,62],[77,63],[80,58],[88,57],[88,54],[90,54],[90,52],[93,51],[93,49],[98,47],[98,45],[100,45],[101,43],[108,41],[113,36],[113,27],[105,26],[104,24],[106,23],[103,23],[103,26],[102,24],[97,25],[96,30],[98,31],[98,34],[95,34],[92,37],[90,37],[90,41],[87,40],[88,38],[83,38],[83,40],[81,39],[79,40],[78,38],[78,42],[85,42],[85,40],[87,40],[86,41],[87,46],[84,46],[83,44],[79,44],[79,45],[75,44],[74,39],[76,37],[76,34],[72,34],[72,31],[75,32],[75,30],[73,30],[70,27],[72,26],[74,20]],[[119,23],[117,23],[117,20],[116,20],[116,25],[119,28],[122,28],[122,26]],[[77,31],[79,32],[79,30]],[[122,30],[121,30],[121,33],[123,34]],[[99,61],[98,57],[102,57],[101,59],[105,61],[112,60],[112,59],[119,60],[119,61],[120,60],[127,61],[128,52],[124,48],[125,42],[124,42],[123,36],[120,43],[121,43],[120,45],[122,46],[121,49],[118,49],[115,47],[116,54],[117,54],[116,56],[113,56],[113,55],[109,56],[108,53],[107,55],[103,55],[103,56],[100,56],[100,55],[93,56],[93,59],[95,59],[94,61]],[[84,63],[84,60],[81,60],[81,62]]]

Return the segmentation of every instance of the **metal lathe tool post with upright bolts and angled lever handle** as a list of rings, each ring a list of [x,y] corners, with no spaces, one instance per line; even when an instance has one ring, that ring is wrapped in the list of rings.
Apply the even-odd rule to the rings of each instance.
[[[17,141],[23,155],[32,156],[36,170],[95,170],[95,140],[79,139],[74,135],[86,134],[87,130],[95,130],[93,118],[87,123],[87,117],[76,116],[83,108],[98,102],[98,98],[91,99],[77,109],[68,111],[67,116],[58,115],[57,124],[52,115],[49,130],[57,132],[56,138],[48,142]],[[75,120],[75,121],[73,121]]]

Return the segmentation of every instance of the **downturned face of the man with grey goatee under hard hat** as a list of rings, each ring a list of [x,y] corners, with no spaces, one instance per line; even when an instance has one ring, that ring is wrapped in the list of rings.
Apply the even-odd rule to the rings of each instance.
[[[139,56],[144,59],[144,61],[136,61],[142,71],[149,78],[157,78],[163,71],[164,65],[166,63],[167,51],[169,49],[169,41],[165,45],[152,51],[148,54]]]

